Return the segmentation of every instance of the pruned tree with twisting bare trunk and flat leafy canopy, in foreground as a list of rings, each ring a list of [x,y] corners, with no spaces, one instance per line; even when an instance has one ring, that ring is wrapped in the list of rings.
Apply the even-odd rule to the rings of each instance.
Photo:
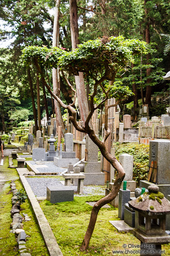
[[[105,38],[105,40],[91,40],[86,43],[79,44],[78,48],[71,52],[66,52],[59,48],[52,48],[50,50],[47,48],[31,46],[26,47],[23,51],[23,58],[26,64],[29,65],[30,63],[34,63],[36,65],[49,93],[70,113],[69,118],[74,127],[78,131],[89,135],[92,141],[99,147],[102,155],[118,172],[111,193],[97,201],[92,208],[89,226],[80,246],[81,251],[85,251],[88,248],[99,210],[103,205],[115,199],[125,176],[125,171],[117,158],[112,156],[105,147],[105,141],[110,134],[110,129],[108,128],[108,109],[113,106],[108,105],[108,98],[110,95],[113,95],[113,91],[115,89],[114,83],[111,83],[112,85],[110,85],[109,81],[114,82],[117,72],[125,69],[131,62],[133,62],[133,55],[135,53],[140,54],[142,52],[146,53],[144,42],[139,40],[125,40],[123,37],[111,37],[107,39]],[[73,103],[75,103],[77,95],[75,89],[70,85],[74,94],[74,100],[72,104],[66,105],[59,97],[53,94],[50,86],[45,81],[43,73],[44,67],[56,68],[57,66],[59,66],[61,70],[72,72],[74,75],[78,75],[79,72],[83,72],[93,80],[93,91],[90,95],[91,110],[83,127],[78,125],[76,120],[76,110],[73,108]],[[63,75],[64,71],[62,71]],[[115,84],[115,86],[116,85],[117,84]],[[95,107],[94,104],[96,103],[98,87],[100,87],[103,92],[103,100],[100,100]],[[118,102],[127,94],[126,88],[123,88],[123,86],[120,86],[120,88],[118,88],[119,86],[116,87],[117,92],[119,90],[121,93],[115,93],[114,96],[117,100],[115,105],[117,105]],[[100,141],[96,137],[93,128],[90,126],[90,120],[94,110],[100,108],[103,104],[105,104],[105,136],[103,140]]]

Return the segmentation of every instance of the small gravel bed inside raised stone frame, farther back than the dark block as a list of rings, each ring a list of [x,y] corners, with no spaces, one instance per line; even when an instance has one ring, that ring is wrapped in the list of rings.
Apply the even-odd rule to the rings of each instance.
[[[34,165],[34,167],[36,168],[37,167],[37,171],[39,172],[63,172],[65,171],[66,169],[65,168],[61,168],[61,167],[58,167],[56,165],[54,165],[53,162],[42,162],[42,161],[29,161],[32,165]],[[38,163],[38,164],[37,164]],[[40,165],[46,165],[47,167],[46,168],[39,168],[39,164]]]

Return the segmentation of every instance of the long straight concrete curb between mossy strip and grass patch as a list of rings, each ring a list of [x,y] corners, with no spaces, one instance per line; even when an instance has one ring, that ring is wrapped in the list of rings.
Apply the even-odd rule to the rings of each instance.
[[[42,212],[42,209],[39,206],[39,202],[36,199],[30,185],[26,181],[26,177],[19,176],[19,178],[26,190],[28,199],[30,200],[30,203],[31,203],[34,213],[36,215],[36,218],[37,218],[37,221],[39,224],[39,228],[41,230],[44,241],[47,245],[47,249],[49,251],[50,256],[63,256],[62,251],[60,250],[59,245],[56,242],[56,239],[54,237],[52,229],[50,228],[50,225],[49,225],[44,213]]]

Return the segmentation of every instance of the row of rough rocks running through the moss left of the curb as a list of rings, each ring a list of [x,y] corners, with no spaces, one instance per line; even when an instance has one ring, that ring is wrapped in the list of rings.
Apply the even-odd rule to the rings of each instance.
[[[15,199],[17,199],[16,193],[18,190],[16,189],[16,185],[14,182],[11,182],[10,186],[13,192],[13,198],[12,198],[13,208],[11,210],[11,217],[13,218],[13,222],[10,225],[10,228],[12,228],[10,232],[14,233],[17,236],[18,249],[19,249],[20,256],[31,256],[30,253],[26,252],[27,251],[26,232],[23,229],[23,224],[22,224],[24,217],[25,217],[25,221],[30,221],[31,219],[29,218],[28,214],[23,213],[24,217],[22,217],[22,215],[20,214],[20,205],[15,202]]]

